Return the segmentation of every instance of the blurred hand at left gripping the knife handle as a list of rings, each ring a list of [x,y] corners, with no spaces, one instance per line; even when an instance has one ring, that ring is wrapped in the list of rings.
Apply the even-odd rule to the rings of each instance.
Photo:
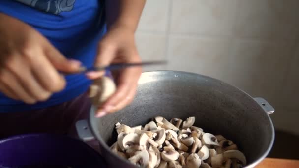
[[[34,28],[0,13],[0,92],[28,104],[45,101],[65,87],[58,70],[79,68]]]

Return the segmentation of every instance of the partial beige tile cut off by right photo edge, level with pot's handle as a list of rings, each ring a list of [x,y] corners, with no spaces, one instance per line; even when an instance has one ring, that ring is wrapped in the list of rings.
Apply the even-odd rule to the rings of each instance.
[[[290,59],[290,67],[282,90],[283,107],[299,109],[299,45]]]

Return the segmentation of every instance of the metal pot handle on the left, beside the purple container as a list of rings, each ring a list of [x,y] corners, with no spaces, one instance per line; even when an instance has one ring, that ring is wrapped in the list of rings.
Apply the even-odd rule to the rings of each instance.
[[[94,136],[91,134],[87,120],[77,121],[76,122],[76,130],[77,130],[79,138],[82,141],[88,142],[88,141],[94,140]]]

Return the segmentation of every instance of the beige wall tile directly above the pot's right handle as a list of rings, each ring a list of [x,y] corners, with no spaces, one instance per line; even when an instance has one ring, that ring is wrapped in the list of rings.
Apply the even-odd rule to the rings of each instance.
[[[232,84],[251,96],[265,98],[274,108],[279,104],[291,45],[283,42],[234,40]]]

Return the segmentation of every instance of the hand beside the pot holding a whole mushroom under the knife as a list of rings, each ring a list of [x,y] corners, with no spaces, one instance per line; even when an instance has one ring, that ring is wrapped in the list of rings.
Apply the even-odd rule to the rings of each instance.
[[[99,42],[95,66],[107,66],[120,62],[141,62],[141,59],[135,45],[134,31],[129,28],[114,27]],[[113,72],[117,84],[116,92],[99,107],[96,117],[118,111],[131,103],[141,72],[141,67],[130,67]],[[87,73],[90,79],[96,79],[102,75],[104,72]]]

